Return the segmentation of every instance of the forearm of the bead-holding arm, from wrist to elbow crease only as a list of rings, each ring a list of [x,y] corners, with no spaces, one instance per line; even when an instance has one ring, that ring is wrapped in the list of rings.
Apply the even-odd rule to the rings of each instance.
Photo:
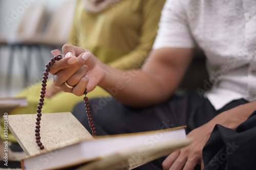
[[[165,101],[171,93],[164,91],[163,84],[145,71],[122,71],[107,65],[104,69],[106,76],[99,85],[125,105],[143,107],[157,104]]]

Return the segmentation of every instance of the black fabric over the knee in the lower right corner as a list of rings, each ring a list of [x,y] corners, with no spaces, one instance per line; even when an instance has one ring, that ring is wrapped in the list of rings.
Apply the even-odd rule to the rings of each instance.
[[[203,149],[206,170],[256,169],[256,111],[236,130],[216,125]]]

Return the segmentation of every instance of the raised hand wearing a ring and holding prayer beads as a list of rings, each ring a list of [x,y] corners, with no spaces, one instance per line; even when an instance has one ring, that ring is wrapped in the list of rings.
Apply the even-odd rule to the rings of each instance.
[[[65,57],[50,68],[55,86],[80,96],[86,88],[93,90],[103,79],[101,62],[90,51],[66,44],[62,52]],[[67,87],[65,82],[74,88]]]

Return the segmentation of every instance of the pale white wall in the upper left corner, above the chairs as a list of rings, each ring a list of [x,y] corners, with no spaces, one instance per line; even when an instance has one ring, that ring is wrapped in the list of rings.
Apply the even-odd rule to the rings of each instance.
[[[0,35],[8,36],[13,33],[24,13],[24,9],[26,10],[29,6],[40,3],[46,4],[49,13],[51,13],[54,7],[67,1],[70,0],[0,0]],[[16,17],[13,11],[17,12],[19,16]],[[6,21],[8,20],[7,17],[10,18],[11,22]]]

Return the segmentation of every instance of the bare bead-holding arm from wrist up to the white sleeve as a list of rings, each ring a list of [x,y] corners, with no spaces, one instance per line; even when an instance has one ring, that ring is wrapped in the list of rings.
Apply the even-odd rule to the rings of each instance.
[[[121,71],[102,64],[104,78],[99,85],[125,105],[159,104],[166,101],[179,85],[192,54],[191,49],[153,51],[148,58],[151,61],[146,61],[140,70]]]

